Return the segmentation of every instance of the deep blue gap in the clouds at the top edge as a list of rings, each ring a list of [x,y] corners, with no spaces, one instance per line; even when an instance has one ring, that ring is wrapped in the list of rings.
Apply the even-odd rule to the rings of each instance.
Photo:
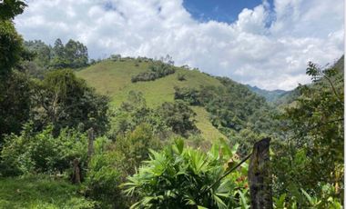
[[[199,21],[215,20],[232,23],[237,20],[244,8],[254,8],[261,0],[184,0],[183,5],[188,12]],[[268,1],[272,5],[272,1]]]

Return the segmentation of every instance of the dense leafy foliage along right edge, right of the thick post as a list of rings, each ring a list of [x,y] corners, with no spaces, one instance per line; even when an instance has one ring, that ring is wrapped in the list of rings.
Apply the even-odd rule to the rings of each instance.
[[[291,135],[274,158],[275,171],[291,195],[304,188],[322,197],[323,208],[326,198],[343,199],[343,73],[310,63],[307,74],[313,85],[301,85],[300,97],[283,115]]]

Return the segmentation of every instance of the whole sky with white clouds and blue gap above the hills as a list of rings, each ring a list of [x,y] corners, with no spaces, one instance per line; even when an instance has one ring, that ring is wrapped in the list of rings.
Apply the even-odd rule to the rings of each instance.
[[[332,3],[331,3],[332,2]],[[344,49],[343,0],[27,0],[25,40],[84,43],[91,58],[160,57],[265,89],[310,82]]]

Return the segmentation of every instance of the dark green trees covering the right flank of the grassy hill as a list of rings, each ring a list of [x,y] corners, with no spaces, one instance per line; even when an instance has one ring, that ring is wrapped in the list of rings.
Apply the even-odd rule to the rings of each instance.
[[[252,93],[245,85],[229,78],[220,78],[221,86],[197,88],[175,87],[174,98],[190,105],[203,106],[209,112],[210,122],[222,134],[240,144],[240,155],[249,152],[260,137],[281,137],[275,133],[280,122],[273,118],[276,110],[265,99]]]

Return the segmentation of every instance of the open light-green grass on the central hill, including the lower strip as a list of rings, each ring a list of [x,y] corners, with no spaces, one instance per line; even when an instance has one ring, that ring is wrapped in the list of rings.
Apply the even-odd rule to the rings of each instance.
[[[124,62],[104,61],[79,71],[76,75],[86,79],[86,82],[95,87],[97,92],[108,95],[112,104],[118,106],[127,99],[128,92],[142,92],[149,106],[157,106],[163,102],[174,100],[174,86],[195,87],[200,85],[221,85],[219,80],[198,71],[176,68],[176,73],[160,78],[156,81],[131,83],[131,77],[148,71],[148,63],[142,62],[135,66],[134,60]],[[185,81],[178,81],[177,75],[185,75]],[[197,114],[197,126],[204,138],[215,140],[225,137],[220,134],[209,122],[209,114],[203,107],[194,107]]]

